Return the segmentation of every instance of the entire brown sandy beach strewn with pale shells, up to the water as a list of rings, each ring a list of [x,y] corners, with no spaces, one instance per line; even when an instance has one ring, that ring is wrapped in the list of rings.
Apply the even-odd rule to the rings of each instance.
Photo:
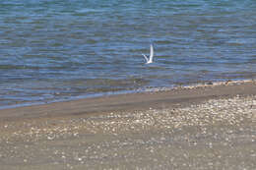
[[[231,170],[255,160],[254,81],[0,110],[1,170]]]

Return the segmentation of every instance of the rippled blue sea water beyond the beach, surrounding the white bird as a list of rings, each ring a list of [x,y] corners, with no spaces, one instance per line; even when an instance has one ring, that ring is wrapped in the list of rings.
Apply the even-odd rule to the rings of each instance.
[[[254,78],[254,0],[0,1],[0,108]]]

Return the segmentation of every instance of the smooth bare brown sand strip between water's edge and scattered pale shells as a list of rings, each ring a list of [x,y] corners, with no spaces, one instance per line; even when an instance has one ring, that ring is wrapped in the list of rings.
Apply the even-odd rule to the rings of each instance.
[[[151,88],[142,92],[103,95],[76,100],[35,104],[0,109],[0,121],[74,116],[105,112],[145,110],[150,108],[186,105],[189,101],[203,101],[209,98],[256,94],[256,81],[228,81],[210,85],[186,85],[173,88]],[[167,106],[168,105],[168,106]]]

